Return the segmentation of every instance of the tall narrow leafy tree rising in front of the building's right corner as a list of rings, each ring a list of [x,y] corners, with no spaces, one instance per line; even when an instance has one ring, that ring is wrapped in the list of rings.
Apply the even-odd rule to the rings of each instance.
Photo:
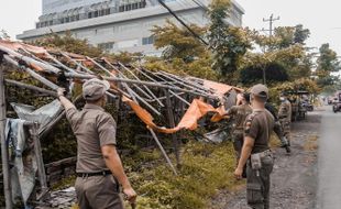
[[[212,1],[209,11],[211,23],[208,40],[213,52],[212,68],[231,82],[242,57],[251,48],[251,41],[246,30],[226,23],[230,7],[230,0]]]

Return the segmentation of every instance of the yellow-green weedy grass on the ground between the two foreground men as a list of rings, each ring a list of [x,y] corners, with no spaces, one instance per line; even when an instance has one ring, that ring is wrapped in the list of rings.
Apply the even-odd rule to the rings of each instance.
[[[140,197],[138,208],[207,208],[219,189],[235,185],[234,151],[230,143],[190,142],[184,147],[178,176],[165,163],[130,174]]]

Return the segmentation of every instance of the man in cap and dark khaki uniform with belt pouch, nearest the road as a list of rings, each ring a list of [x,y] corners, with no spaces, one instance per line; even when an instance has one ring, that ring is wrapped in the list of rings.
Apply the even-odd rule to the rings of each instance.
[[[264,85],[255,85],[251,89],[253,112],[244,124],[244,145],[234,175],[242,177],[246,164],[246,199],[253,209],[270,208],[270,175],[274,158],[270,150],[270,135],[274,129],[274,117],[265,109],[268,89]]]

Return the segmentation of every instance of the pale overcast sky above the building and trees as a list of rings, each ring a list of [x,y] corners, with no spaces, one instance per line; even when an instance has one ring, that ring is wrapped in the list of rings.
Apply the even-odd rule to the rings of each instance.
[[[304,24],[311,31],[309,46],[330,43],[341,55],[340,0],[237,0],[244,9],[244,26],[261,30],[268,28],[262,21],[272,13],[280,20],[275,26]],[[34,29],[42,13],[42,0],[1,0],[0,29],[12,38],[24,30]]]

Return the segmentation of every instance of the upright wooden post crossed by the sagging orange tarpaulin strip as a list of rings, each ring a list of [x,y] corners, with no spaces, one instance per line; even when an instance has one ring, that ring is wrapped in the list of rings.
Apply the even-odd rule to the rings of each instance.
[[[174,114],[172,111],[172,102],[170,102],[169,91],[166,91],[166,97],[167,97],[166,105],[167,105],[168,122],[169,122],[170,128],[175,128],[175,120],[174,120]],[[173,141],[173,146],[174,146],[174,152],[175,152],[176,166],[177,166],[177,168],[179,168],[182,163],[180,163],[179,143],[178,143],[176,133],[172,134],[172,141]]]

